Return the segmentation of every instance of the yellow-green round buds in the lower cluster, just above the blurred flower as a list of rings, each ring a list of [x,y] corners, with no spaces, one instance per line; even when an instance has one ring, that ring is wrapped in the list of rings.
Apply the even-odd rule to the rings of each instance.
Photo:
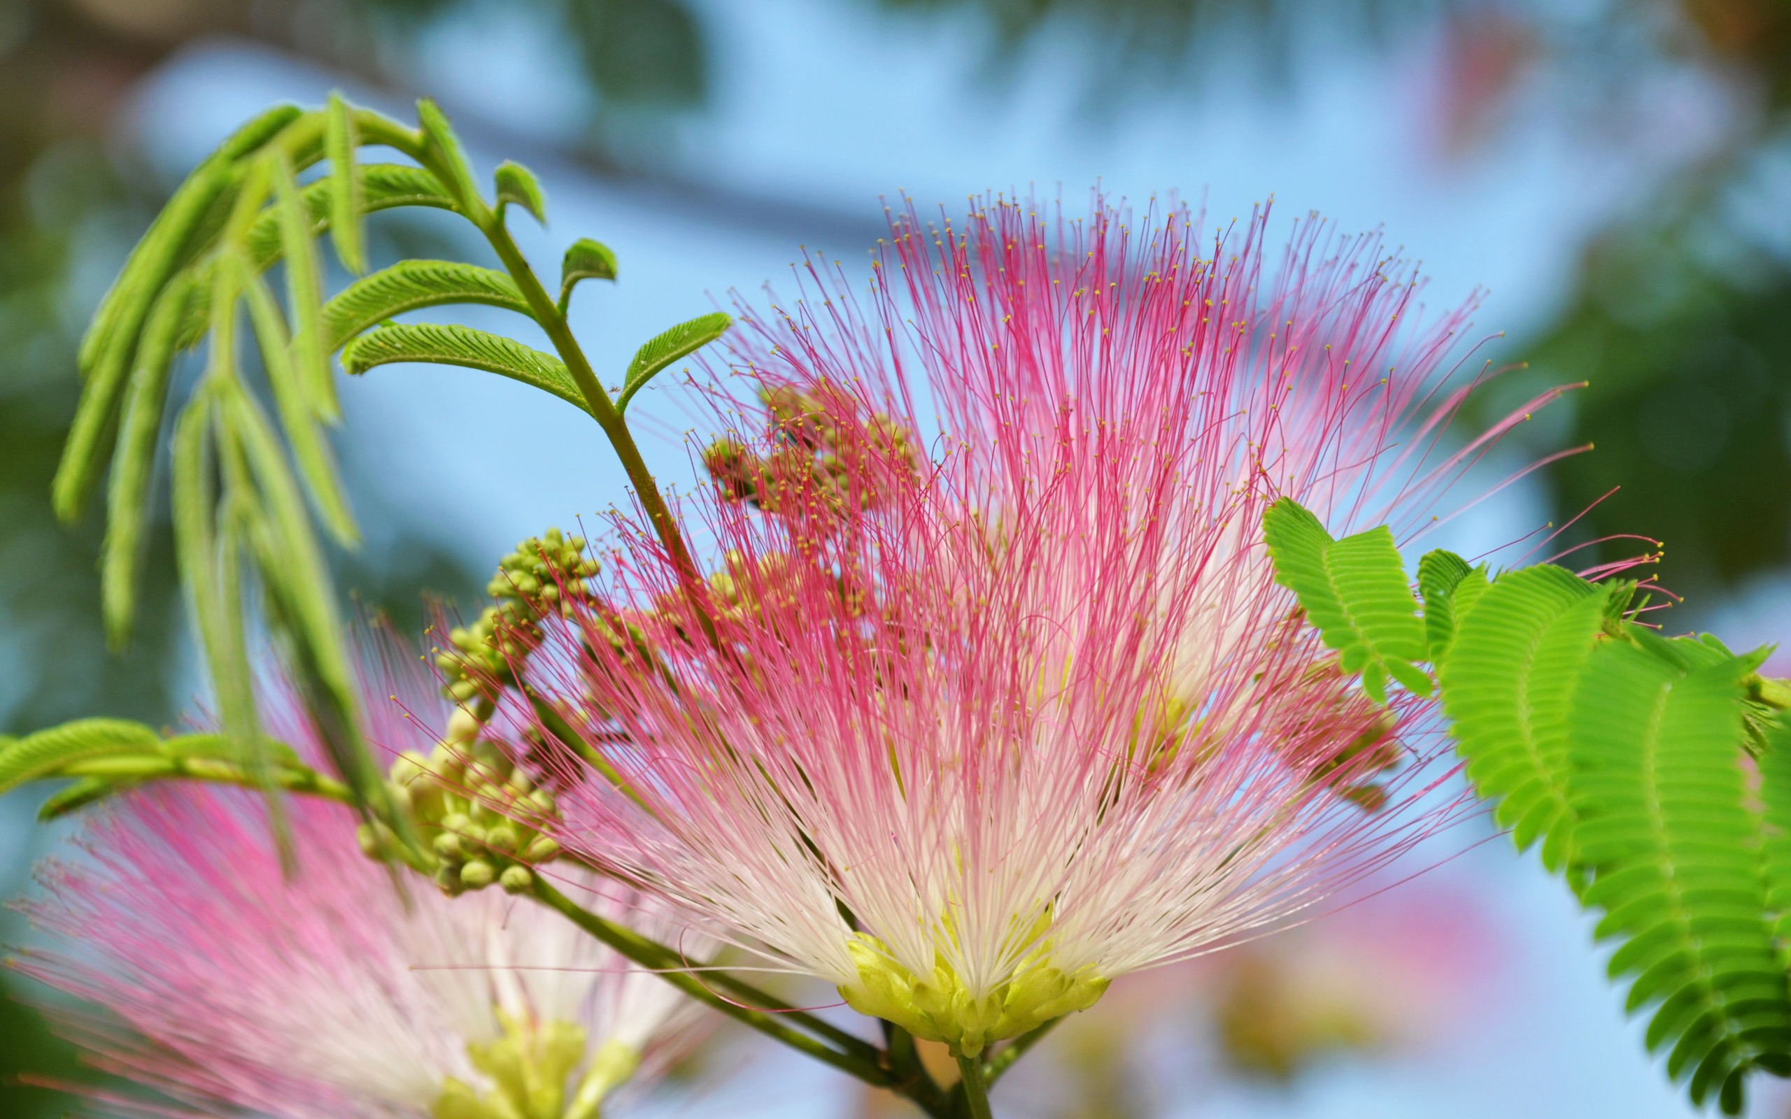
[[[394,799],[433,856],[442,893],[493,883],[521,893],[534,884],[534,867],[561,852],[527,820],[544,825],[557,806],[553,793],[476,732],[476,720],[457,711],[433,752],[401,754],[390,770]],[[360,845],[378,859],[398,854],[398,836],[385,824],[362,825]]]

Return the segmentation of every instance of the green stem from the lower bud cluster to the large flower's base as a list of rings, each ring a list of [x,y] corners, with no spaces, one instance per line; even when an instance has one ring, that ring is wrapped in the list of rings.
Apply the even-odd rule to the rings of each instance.
[[[715,990],[711,990],[711,983],[715,987],[727,987],[738,994],[743,994],[763,1006],[772,1006],[772,1008],[781,1006],[781,1003],[765,995],[758,988],[745,985],[738,979],[729,979],[720,972],[716,972],[713,978],[706,976],[709,983],[688,974],[684,969],[688,969],[690,963],[682,956],[664,947],[663,944],[656,944],[641,936],[639,933],[629,927],[623,927],[613,920],[605,920],[596,913],[591,913],[589,910],[584,910],[570,897],[566,897],[564,893],[550,886],[546,881],[543,881],[541,876],[536,876],[536,884],[530,888],[530,895],[546,908],[553,910],[566,920],[573,922],[575,926],[589,933],[591,936],[616,949],[620,954],[627,956],[634,963],[650,969],[661,979],[679,988],[691,999],[697,999],[704,1006],[718,1010],[727,1017],[745,1026],[750,1026],[752,1029],[758,1029],[759,1033],[765,1033],[767,1037],[772,1037],[793,1049],[801,1049],[802,1053],[817,1060],[822,1060],[833,1065],[835,1069],[840,1069],[842,1072],[851,1072],[853,1076],[863,1080],[869,1085],[883,1089],[892,1085],[888,1071],[878,1060],[881,1055],[874,1046],[869,1046],[861,1038],[845,1035],[844,1031],[838,1031],[833,1026],[826,1026],[826,1022],[820,1022],[818,1019],[813,1019],[811,1015],[806,1015],[802,1012],[792,1012],[788,1015],[788,1021],[784,1021],[783,1013],[765,1013],[763,1010],[754,1010],[750,1006],[741,1006],[738,1003],[724,999],[722,995],[715,994]],[[838,1035],[851,1040],[853,1051],[844,1053],[840,1049],[822,1044],[820,1040],[806,1033],[792,1029],[788,1024],[790,1021],[802,1022],[804,1026],[808,1024],[824,1026],[826,1028],[824,1031],[829,1037]],[[870,1055],[861,1055],[860,1049],[869,1049]]]

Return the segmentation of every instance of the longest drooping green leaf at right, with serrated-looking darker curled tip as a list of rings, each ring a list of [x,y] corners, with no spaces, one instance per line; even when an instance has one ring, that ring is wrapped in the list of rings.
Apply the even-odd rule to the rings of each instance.
[[[1737,1114],[1755,1067],[1791,1071],[1791,985],[1766,918],[1761,820],[1739,765],[1752,664],[1698,641],[1601,641],[1569,716],[1578,856],[1598,936],[1624,944],[1632,1012],[1667,1076]],[[1675,648],[1676,646],[1676,648]],[[1689,648],[1698,646],[1698,648]]]

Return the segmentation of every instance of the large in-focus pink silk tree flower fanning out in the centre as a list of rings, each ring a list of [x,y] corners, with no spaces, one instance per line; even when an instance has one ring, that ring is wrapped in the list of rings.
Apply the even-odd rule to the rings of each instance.
[[[1418,326],[1372,238],[1270,278],[1263,236],[985,202],[899,218],[863,297],[743,308],[722,569],[623,526],[613,609],[525,668],[616,779],[557,838],[969,1056],[1435,831],[1431,702],[1345,679],[1261,519],[1427,514],[1485,446],[1433,460],[1463,315]]]

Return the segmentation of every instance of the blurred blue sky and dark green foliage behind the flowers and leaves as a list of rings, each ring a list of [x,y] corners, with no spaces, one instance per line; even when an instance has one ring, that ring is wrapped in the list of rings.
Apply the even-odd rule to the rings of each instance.
[[[1100,184],[1213,220],[1273,197],[1282,218],[1381,226],[1435,303],[1485,286],[1481,356],[1528,363],[1479,417],[1587,383],[1490,469],[1596,449],[1501,491],[1456,526],[1461,550],[1583,514],[1580,539],[1666,541],[1669,628],[1748,645],[1791,621],[1784,0],[0,0],[0,730],[192,707],[165,532],[113,655],[99,521],[50,517],[73,342],[192,163],[267,102],[331,88],[398,115],[433,95],[478,163],[534,167],[553,218],[530,231],[537,260],[578,236],[618,251],[621,283],[586,288],[575,324],[611,369],[802,245],[863,261],[897,192],[922,211],[983,190],[1075,208]],[[426,217],[373,233],[385,258],[478,258]],[[424,591],[471,603],[514,541],[620,492],[582,417],[507,381],[390,369],[344,403],[369,539],[340,577],[399,625]],[[677,392],[636,412],[661,474],[691,485]],[[0,895],[61,838],[36,799],[0,799]],[[1485,822],[1431,861],[1334,918],[1121,981],[998,1108],[1689,1114],[1565,888]],[[0,942],[18,935],[0,917]],[[93,1074],[9,990],[0,1115],[61,1115],[75,1098],[43,1085]],[[706,1065],[639,1114],[896,1114],[745,1040]],[[1791,1114],[1762,1087],[1753,1114]]]

